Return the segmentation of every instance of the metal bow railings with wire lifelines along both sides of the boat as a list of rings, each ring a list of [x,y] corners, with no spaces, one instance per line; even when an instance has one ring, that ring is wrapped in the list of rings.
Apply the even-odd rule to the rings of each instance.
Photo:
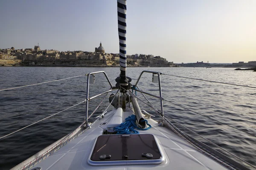
[[[137,84],[138,84],[139,81],[140,81],[141,76],[142,76],[143,73],[145,73],[145,72],[146,72],[146,73],[152,73],[152,74],[157,74],[157,75],[158,75],[157,77],[158,77],[159,96],[153,95],[153,94],[151,94],[151,93],[149,93],[149,92],[145,92],[145,91],[141,90],[141,89],[137,86]],[[107,81],[108,81],[108,83],[109,83],[109,85],[110,85],[110,89],[107,90],[107,91],[105,91],[105,92],[99,93],[98,95],[94,95],[94,96],[92,96],[92,97],[89,98],[90,75],[94,75],[94,74],[98,74],[98,73],[103,73],[103,74],[105,75],[105,77],[106,77],[106,79],[107,79]],[[228,156],[223,155],[222,153],[218,152],[217,150],[214,150],[214,149],[212,149],[211,147],[207,146],[207,145],[204,144],[203,142],[198,141],[198,140],[196,140],[196,139],[190,137],[189,135],[183,133],[181,130],[179,130],[174,124],[172,124],[171,121],[175,122],[176,124],[179,124],[180,126],[184,127],[186,130],[189,130],[190,132],[192,132],[192,133],[194,133],[194,134],[200,136],[201,138],[204,138],[203,136],[201,136],[201,135],[199,135],[198,133],[195,133],[194,131],[190,130],[189,128],[183,126],[182,124],[178,123],[177,121],[175,121],[174,119],[170,118],[169,116],[163,115],[163,101],[169,102],[169,103],[174,104],[174,105],[179,106],[179,107],[182,107],[183,109],[186,109],[186,110],[188,110],[188,111],[190,111],[190,112],[193,112],[193,113],[195,113],[195,114],[198,114],[198,115],[204,116],[204,117],[206,117],[206,118],[212,119],[213,121],[216,121],[216,122],[218,122],[218,123],[227,125],[227,126],[229,126],[229,127],[232,127],[232,128],[234,128],[234,129],[236,129],[236,130],[242,131],[242,132],[247,133],[247,134],[249,134],[249,135],[253,135],[254,137],[256,137],[256,135],[254,135],[254,134],[252,134],[252,133],[249,133],[249,132],[246,132],[246,131],[244,131],[244,130],[240,130],[239,128],[233,127],[233,126],[231,126],[231,125],[229,125],[229,124],[225,124],[225,123],[223,123],[223,122],[221,122],[221,121],[217,121],[217,120],[215,120],[214,118],[210,118],[210,117],[208,117],[208,116],[206,116],[206,115],[204,115],[204,114],[195,112],[195,111],[193,111],[193,110],[191,110],[191,109],[188,109],[188,108],[186,108],[186,107],[181,106],[180,104],[175,104],[175,102],[168,101],[168,100],[164,99],[164,98],[163,98],[163,95],[162,95],[162,88],[161,88],[161,79],[160,79],[160,76],[161,76],[161,75],[168,75],[168,74],[162,74],[162,73],[160,73],[160,72],[154,72],[154,71],[143,71],[143,72],[141,72],[141,74],[140,74],[140,76],[139,76],[139,78],[138,78],[136,84],[132,87],[132,89],[135,90],[135,91],[137,91],[137,92],[140,92],[140,93],[143,95],[143,97],[145,98],[146,101],[143,101],[143,100],[140,99],[137,95],[134,95],[134,93],[131,92],[131,89],[128,89],[128,91],[127,91],[128,94],[127,94],[127,95],[129,95],[129,101],[128,101],[128,102],[129,102],[129,107],[130,107],[130,96],[133,96],[133,97],[138,98],[138,99],[139,99],[140,101],[142,101],[144,104],[146,104],[147,106],[151,107],[151,108],[157,113],[157,115],[160,116],[160,118],[161,118],[160,125],[165,126],[165,127],[167,127],[167,128],[170,128],[171,130],[175,131],[175,133],[177,133],[178,135],[182,136],[184,139],[186,139],[187,141],[189,141],[189,143],[191,143],[194,147],[196,147],[196,148],[197,148],[198,150],[200,150],[202,153],[204,153],[204,152],[209,153],[209,152],[210,152],[210,153],[211,153],[210,155],[211,155],[211,156],[213,155],[212,158],[216,159],[217,161],[220,161],[220,163],[221,163],[221,162],[225,162],[224,160],[228,160],[229,162],[232,162],[231,164],[229,164],[230,169],[234,169],[234,167],[235,167],[235,168],[241,167],[240,169],[248,169],[248,168],[244,167],[243,165],[239,164],[238,162],[233,161],[233,160],[232,160],[231,158],[229,158]],[[74,77],[70,77],[70,78],[76,78],[76,77],[80,77],[80,76],[84,76],[84,75],[74,76]],[[55,114],[50,115],[50,116],[47,117],[47,118],[50,118],[50,117],[52,117],[52,116],[54,116],[54,115],[56,115],[56,114],[59,114],[59,113],[65,111],[65,110],[67,110],[67,109],[70,109],[70,108],[75,107],[75,106],[77,106],[77,105],[79,105],[79,104],[81,104],[81,103],[86,102],[86,117],[84,118],[84,122],[83,122],[73,133],[70,133],[69,135],[67,135],[67,136],[64,137],[63,139],[61,139],[61,140],[55,142],[55,143],[54,143],[55,146],[54,146],[53,148],[50,148],[49,150],[48,150],[48,148],[47,148],[47,152],[46,152],[46,153],[49,153],[49,151],[51,151],[51,150],[53,150],[53,149],[55,149],[55,148],[58,149],[58,146],[61,147],[61,145],[63,145],[64,142],[67,143],[67,141],[70,140],[71,138],[75,138],[77,135],[81,134],[85,129],[90,128],[92,124],[94,124],[97,120],[99,120],[100,118],[102,118],[102,116],[107,112],[108,107],[112,104],[112,102],[113,102],[115,99],[117,99],[117,98],[115,98],[115,97],[119,94],[119,90],[120,90],[120,89],[117,89],[116,87],[113,87],[113,85],[111,84],[111,82],[110,82],[110,80],[109,80],[107,74],[106,74],[104,71],[88,73],[88,74],[86,74],[86,76],[87,76],[87,93],[86,93],[86,99],[85,99],[84,101],[81,101],[81,102],[78,103],[78,104],[75,104],[75,105],[73,105],[73,106],[71,106],[71,107],[68,107],[68,108],[66,108],[66,109],[64,109],[64,110],[62,110],[62,111],[60,111],[60,112],[57,112],[57,113],[55,113]],[[175,77],[180,77],[180,78],[186,78],[186,77],[176,76],[176,75],[169,75],[169,76],[175,76]],[[34,85],[39,85],[39,84],[45,84],[45,83],[50,83],[50,82],[55,82],[55,81],[66,80],[66,79],[70,79],[70,78],[64,78],[64,79],[59,79],[59,80],[54,80],[54,81],[47,81],[47,82],[43,82],[43,83],[37,83],[37,84],[19,86],[19,87],[14,87],[14,88],[9,88],[9,89],[2,89],[2,90],[0,90],[0,91],[11,90],[11,89],[21,88],[21,87],[26,87],[26,86],[34,86]],[[207,80],[201,80],[201,79],[196,79],[196,78],[189,78],[189,79],[195,79],[195,80],[199,80],[199,81],[207,81]],[[243,86],[243,87],[249,87],[249,88],[256,88],[256,87],[253,87],[253,86],[244,86],[244,85],[237,85],[237,84],[228,84],[228,83],[217,82],[217,81],[209,81],[209,82],[212,82],[212,83],[221,83],[221,84],[227,84],[227,85],[234,85],[234,86]],[[121,87],[121,88],[122,88],[122,87]],[[104,110],[99,116],[96,117],[96,120],[94,120],[91,124],[89,124],[88,119],[96,112],[96,110],[97,110],[97,109],[99,108],[99,106],[102,104],[102,102],[104,101],[104,99],[106,98],[106,96],[108,95],[108,93],[109,93],[109,92],[112,92],[112,91],[114,91],[114,90],[117,90],[117,91],[116,91],[116,94],[114,95],[115,97],[113,97],[113,99],[112,99],[112,101],[110,102],[110,104],[108,105],[108,107],[106,107],[105,110]],[[122,94],[122,93],[121,93],[121,94]],[[102,95],[105,95],[105,96],[104,96],[104,98],[102,99],[102,101],[100,102],[100,104],[96,107],[96,109],[94,109],[94,111],[93,111],[90,115],[88,115],[88,104],[89,104],[89,101],[91,101],[92,99],[97,98],[97,97],[99,97],[99,96],[102,96]],[[161,110],[158,110],[156,107],[154,107],[154,105],[148,100],[148,98],[146,98],[145,95],[149,95],[149,96],[152,96],[152,97],[154,97],[154,98],[160,99]],[[119,98],[119,97],[118,97],[118,98]],[[122,97],[121,99],[123,99],[123,97]],[[119,100],[119,99],[118,99],[118,100]],[[119,104],[120,104],[120,102],[119,102]],[[28,126],[26,126],[26,127],[23,127],[23,128],[21,128],[21,129],[19,129],[19,130],[16,130],[15,132],[12,132],[12,133],[9,133],[9,134],[7,134],[7,135],[4,135],[4,136],[0,137],[0,139],[1,139],[1,138],[5,138],[5,137],[7,137],[7,136],[9,136],[9,135],[12,135],[13,133],[16,133],[16,132],[18,132],[18,131],[20,131],[20,130],[23,130],[23,129],[27,128],[27,127],[30,127],[30,126],[32,126],[32,125],[34,125],[34,124],[37,124],[37,123],[39,123],[39,122],[41,122],[41,121],[43,121],[43,120],[45,120],[45,119],[47,119],[47,118],[41,119],[40,121],[36,121],[35,123],[32,123],[32,124],[30,124],[30,125],[28,125]],[[80,129],[80,127],[81,127],[81,129]],[[213,144],[215,147],[218,147],[218,148],[220,148],[221,150],[223,150],[223,151],[229,153],[229,154],[232,155],[233,157],[238,158],[239,160],[243,161],[243,162],[246,163],[247,165],[250,165],[250,167],[256,168],[254,165],[248,163],[247,161],[244,161],[243,159],[239,158],[238,156],[234,155],[233,153],[230,153],[229,151],[225,150],[224,148],[222,148],[222,147],[218,146],[217,144],[215,144],[215,143],[209,141],[207,138],[204,138],[204,140],[206,140],[206,141],[208,141],[209,143]],[[46,154],[46,153],[44,153],[44,154]],[[47,156],[47,155],[45,155],[45,156]],[[37,159],[37,158],[41,158],[41,157],[42,157],[42,156],[33,157],[33,159],[34,159],[34,158]],[[31,160],[31,159],[30,159],[30,160]]]

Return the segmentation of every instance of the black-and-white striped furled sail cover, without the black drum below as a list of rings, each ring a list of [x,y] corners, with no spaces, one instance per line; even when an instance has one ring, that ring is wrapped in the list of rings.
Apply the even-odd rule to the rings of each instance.
[[[119,63],[121,75],[126,71],[126,0],[117,0],[118,35],[119,35]],[[122,75],[125,76],[125,75]]]

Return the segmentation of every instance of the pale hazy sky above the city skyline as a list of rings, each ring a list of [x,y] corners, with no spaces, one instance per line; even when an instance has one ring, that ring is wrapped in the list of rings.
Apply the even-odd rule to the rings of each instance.
[[[116,0],[1,0],[0,48],[119,53]],[[256,0],[127,0],[127,54],[256,61]]]

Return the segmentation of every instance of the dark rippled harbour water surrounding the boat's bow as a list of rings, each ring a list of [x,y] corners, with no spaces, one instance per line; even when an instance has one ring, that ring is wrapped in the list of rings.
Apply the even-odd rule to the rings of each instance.
[[[107,72],[112,84],[116,84],[114,80],[119,75],[119,68],[0,67],[0,72],[2,73],[0,74],[0,80],[5,80],[0,81],[0,89],[73,77],[99,70]],[[143,70],[144,68],[128,68],[128,75],[134,76],[132,84],[137,81],[140,72]],[[203,68],[150,68],[150,70],[185,77],[256,86],[256,77],[253,72],[237,72],[227,68],[212,68],[207,72]],[[108,82],[102,82],[104,78],[104,75],[96,75],[96,83],[90,85],[90,96],[109,89]],[[143,74],[138,86],[143,91],[159,95],[158,84],[151,83],[151,78],[150,74]],[[161,79],[163,98],[166,100],[246,132],[256,134],[255,89],[184,78],[170,78],[166,75],[162,75]],[[83,101],[86,96],[85,86],[86,78],[73,78],[50,84],[2,91],[0,95],[0,136]],[[137,92],[137,95],[143,98],[139,92]],[[157,109],[160,109],[159,99],[150,96],[148,98]],[[100,100],[93,99],[89,104],[89,113],[93,111],[99,102]],[[145,104],[140,101],[139,103],[141,104],[141,109],[154,114],[154,111],[150,110]],[[189,112],[166,101],[163,101],[163,104],[164,114],[231,153],[256,165],[254,159],[256,158],[255,137]],[[99,112],[93,115],[93,119],[107,105],[108,99],[99,108]],[[44,147],[75,130],[84,121],[84,106],[84,104],[81,104],[78,107],[73,107],[9,138],[0,140],[0,169],[12,168],[15,164],[29,158],[44,149]],[[157,116],[156,119],[159,119],[159,117]],[[182,127],[180,129],[212,146],[209,142],[202,140],[186,129]],[[214,148],[219,150],[217,147]]]

